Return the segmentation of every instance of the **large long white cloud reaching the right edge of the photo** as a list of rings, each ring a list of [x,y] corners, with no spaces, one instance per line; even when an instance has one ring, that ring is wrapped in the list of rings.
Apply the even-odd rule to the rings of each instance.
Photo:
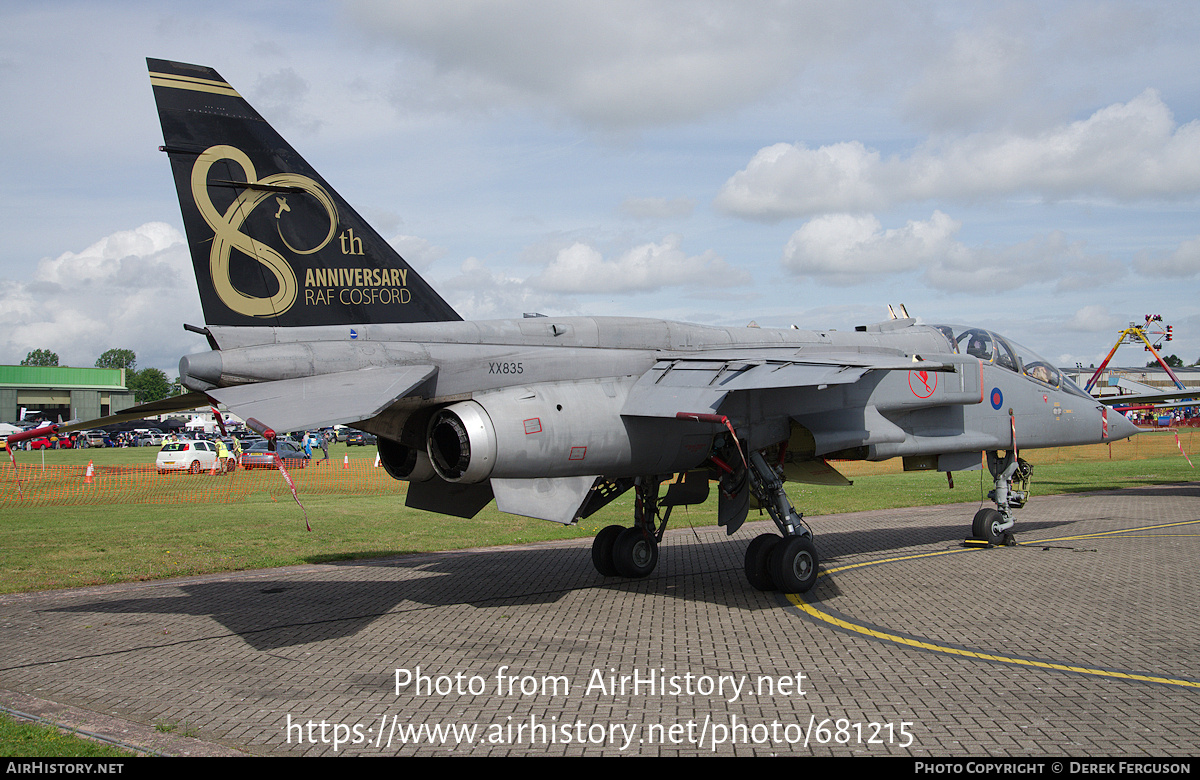
[[[1177,125],[1146,90],[1039,134],[977,133],[883,158],[858,142],[775,144],[731,176],[718,208],[752,220],[871,211],[930,198],[1098,196],[1112,200],[1200,192],[1200,121]]]

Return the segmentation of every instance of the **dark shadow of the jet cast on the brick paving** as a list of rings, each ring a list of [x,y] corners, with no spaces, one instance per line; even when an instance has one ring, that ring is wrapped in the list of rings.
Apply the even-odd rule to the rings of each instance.
[[[1147,497],[1198,496],[1200,486],[1171,485],[1141,488]],[[822,530],[812,523],[823,568],[851,557],[877,556],[913,547],[953,548],[968,535],[970,517],[961,524],[920,523],[919,509],[902,510],[888,524],[847,530]],[[1031,512],[1032,515],[1032,512]],[[1028,521],[1019,517],[1016,532],[1040,532],[1072,521]],[[914,521],[908,522],[906,521]],[[175,586],[185,595],[110,599],[58,612],[109,614],[208,616],[259,650],[307,642],[350,637],[376,620],[410,610],[464,605],[476,608],[554,604],[589,588],[638,590],[648,596],[709,601],[738,608],[778,608],[779,600],[762,598],[745,582],[742,562],[745,546],[769,523],[751,523],[736,536],[694,540],[676,535],[661,551],[659,569],[644,580],[601,577],[592,569],[586,547],[496,548],[469,553],[437,553],[342,560],[325,564],[331,576],[314,578],[246,577]],[[337,570],[410,569],[424,576],[338,578]],[[146,586],[152,590],[161,586]],[[811,598],[838,594],[836,577],[823,576]]]

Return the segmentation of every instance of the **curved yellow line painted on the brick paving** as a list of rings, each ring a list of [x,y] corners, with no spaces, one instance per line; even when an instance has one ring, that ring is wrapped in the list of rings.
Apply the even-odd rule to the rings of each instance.
[[[1144,526],[1141,528],[1129,528],[1126,530],[1110,530],[1099,532],[1096,534],[1080,534],[1078,536],[1061,536],[1058,539],[1040,539],[1037,541],[1022,542],[1025,546],[1034,547],[1037,545],[1044,545],[1051,541],[1068,541],[1072,539],[1096,539],[1103,536],[1115,536],[1122,534],[1130,534],[1140,530],[1153,530],[1158,528],[1172,528],[1176,526],[1193,526],[1200,523],[1198,520],[1183,521],[1177,523],[1163,523],[1159,526]],[[1174,534],[1172,534],[1174,535]],[[895,558],[884,558],[880,560],[868,560],[863,563],[856,563],[847,566],[838,566],[836,569],[826,569],[820,576],[824,577],[839,571],[850,571],[851,569],[860,569],[863,566],[875,566],[886,563],[898,563],[901,560],[914,560],[918,558],[932,558],[936,556],[948,556],[948,554],[964,554],[968,552],[979,552],[977,548],[966,550],[943,550],[938,552],[926,552],[918,553],[913,556],[898,556]],[[787,594],[787,600],[791,601],[798,610],[808,614],[809,617],[827,623],[834,628],[841,629],[844,631],[850,631],[851,634],[858,634],[862,636],[870,637],[872,640],[878,640],[881,642],[892,642],[893,644],[901,644],[904,647],[912,647],[920,650],[930,650],[934,653],[943,653],[946,655],[958,655],[960,658],[974,658],[983,661],[992,661],[998,664],[1012,664],[1014,666],[1027,666],[1032,668],[1044,668],[1056,672],[1072,672],[1075,674],[1090,674],[1092,677],[1104,677],[1110,679],[1127,679],[1139,683],[1156,683],[1159,685],[1178,685],[1181,688],[1200,689],[1200,682],[1178,679],[1174,677],[1158,677],[1156,674],[1138,674],[1133,672],[1118,672],[1115,670],[1094,668],[1090,666],[1072,666],[1069,664],[1052,664],[1050,661],[1038,661],[1026,658],[1016,658],[1012,655],[997,655],[995,653],[980,653],[977,650],[966,650],[958,647],[950,647],[948,644],[942,644],[937,642],[930,642],[928,640],[920,640],[914,637],[900,636],[899,634],[892,634],[889,631],[881,631],[878,629],[871,629],[858,623],[851,623],[842,618],[834,617],[828,612],[822,612],[815,605],[809,604],[803,595],[790,593]]]

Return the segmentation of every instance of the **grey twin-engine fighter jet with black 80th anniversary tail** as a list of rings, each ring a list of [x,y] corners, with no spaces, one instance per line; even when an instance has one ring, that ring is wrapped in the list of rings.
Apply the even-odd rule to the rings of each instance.
[[[1002,544],[1027,498],[1019,448],[1136,432],[1015,342],[902,310],[853,332],[463,322],[216,71],[149,67],[206,320],[185,328],[211,352],[180,361],[191,394],[121,418],[220,402],[269,438],[349,425],[409,506],[458,517],[494,499],[572,523],[632,490],[632,523],[593,544],[605,576],[650,574],[671,510],[715,482],[728,533],[751,502],[775,522],[745,572],[788,593],[818,558],[785,480],[845,484],[830,460],[985,462],[995,509],[972,534]]]

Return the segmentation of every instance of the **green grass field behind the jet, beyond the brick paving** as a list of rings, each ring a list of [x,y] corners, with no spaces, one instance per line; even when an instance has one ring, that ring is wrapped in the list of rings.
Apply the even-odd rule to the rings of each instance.
[[[1192,438],[1188,432],[1182,439],[1189,454]],[[1200,434],[1195,439],[1200,442]],[[46,463],[82,467],[91,460],[97,468],[146,466],[152,464],[155,454],[152,448],[52,451],[46,452]],[[22,464],[38,466],[41,455],[20,452],[18,460]],[[379,480],[378,488],[336,488],[335,482],[335,492],[306,492],[305,480],[343,473],[338,469],[346,455],[370,468],[374,450],[337,445],[330,451],[332,463],[296,473],[311,532],[305,530],[305,514],[277,472],[166,478],[167,491],[194,492],[194,486],[211,491],[197,494],[211,496],[212,500],[188,503],[168,493],[160,497],[163,500],[152,503],[116,503],[121,500],[118,494],[103,499],[113,503],[30,506],[12,499],[14,486],[6,482],[2,488],[8,491],[7,499],[0,500],[5,540],[0,545],[0,593],[592,536],[605,526],[631,522],[632,493],[622,496],[577,527],[504,515],[491,506],[473,520],[430,515],[407,509],[403,484],[378,476],[382,469],[371,474],[372,480]],[[1022,455],[1034,464],[1034,496],[1196,479],[1169,434],[1146,434],[1115,445],[1114,460],[1108,458],[1108,448],[1103,445],[1028,450]],[[6,470],[10,468],[5,466]],[[955,474],[955,488],[948,490],[944,474],[904,474],[899,461],[848,462],[839,463],[838,468],[854,486],[788,485],[792,500],[806,516],[980,502],[991,488],[983,472]],[[78,472],[72,479],[76,485],[80,482]],[[324,485],[307,484],[314,490]],[[235,499],[227,492],[229,485],[238,485],[241,491]],[[88,497],[80,487],[74,492]],[[1036,506],[1031,502],[1024,512],[1036,512]],[[715,491],[712,491],[707,504],[677,509],[670,527],[712,526],[715,508]],[[964,526],[968,523],[970,515],[965,515]],[[820,535],[820,528],[816,530]]]

